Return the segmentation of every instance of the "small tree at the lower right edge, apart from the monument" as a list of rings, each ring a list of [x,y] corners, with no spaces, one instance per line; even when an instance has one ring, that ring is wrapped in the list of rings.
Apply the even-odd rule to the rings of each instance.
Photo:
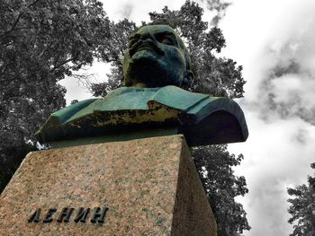
[[[311,168],[315,169],[315,162],[311,164]],[[288,188],[287,191],[293,197],[288,199],[291,204],[288,212],[292,214],[288,222],[293,224],[293,233],[290,236],[315,235],[315,175],[308,177],[307,185]]]

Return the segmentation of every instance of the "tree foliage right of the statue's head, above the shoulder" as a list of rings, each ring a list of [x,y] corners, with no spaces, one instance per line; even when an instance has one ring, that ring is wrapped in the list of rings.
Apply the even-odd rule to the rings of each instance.
[[[243,96],[241,66],[236,66],[232,59],[215,57],[225,47],[225,39],[217,27],[208,29],[208,23],[202,21],[202,8],[186,1],[179,11],[170,11],[167,7],[163,13],[149,13],[153,22],[170,22],[179,35],[185,39],[193,60],[194,82],[190,88],[193,92],[211,93],[214,96]]]

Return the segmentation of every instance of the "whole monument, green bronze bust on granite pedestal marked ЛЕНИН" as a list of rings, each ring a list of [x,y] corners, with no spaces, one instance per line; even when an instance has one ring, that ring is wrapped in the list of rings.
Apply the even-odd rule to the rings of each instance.
[[[141,27],[123,59],[124,87],[53,113],[0,201],[4,235],[216,235],[188,146],[243,142],[228,98],[187,92],[182,39]],[[187,145],[188,144],[188,145]]]

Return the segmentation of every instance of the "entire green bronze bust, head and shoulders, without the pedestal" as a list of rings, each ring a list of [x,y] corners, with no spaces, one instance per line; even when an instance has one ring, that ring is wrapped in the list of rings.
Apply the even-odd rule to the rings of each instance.
[[[154,135],[148,130],[176,130],[189,145],[247,139],[244,114],[236,102],[180,88],[193,81],[193,73],[187,49],[172,28],[144,26],[133,34],[123,76],[126,87],[53,113],[36,133],[40,143],[88,144],[92,141],[86,137],[108,142]],[[74,139],[77,142],[66,144]]]

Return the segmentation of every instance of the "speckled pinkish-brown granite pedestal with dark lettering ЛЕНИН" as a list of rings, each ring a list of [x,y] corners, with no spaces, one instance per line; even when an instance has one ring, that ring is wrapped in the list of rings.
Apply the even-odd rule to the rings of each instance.
[[[109,208],[104,223],[74,222],[95,206]],[[63,207],[76,208],[68,223]],[[0,235],[214,236],[216,224],[184,137],[169,135],[28,154],[0,197]]]

